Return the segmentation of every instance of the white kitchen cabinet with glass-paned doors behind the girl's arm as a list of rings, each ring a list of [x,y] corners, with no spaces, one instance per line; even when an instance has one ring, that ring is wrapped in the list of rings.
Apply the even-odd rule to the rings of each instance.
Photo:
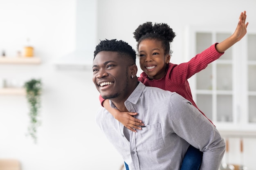
[[[187,60],[233,32],[189,28]],[[218,60],[191,77],[189,83],[198,108],[220,131],[256,131],[256,32],[248,31]]]

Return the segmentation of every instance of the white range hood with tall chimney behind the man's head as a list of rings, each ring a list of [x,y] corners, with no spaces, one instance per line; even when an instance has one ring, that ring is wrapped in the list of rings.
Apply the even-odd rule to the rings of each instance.
[[[97,1],[76,0],[75,50],[54,61],[58,68],[92,68],[97,37]]]

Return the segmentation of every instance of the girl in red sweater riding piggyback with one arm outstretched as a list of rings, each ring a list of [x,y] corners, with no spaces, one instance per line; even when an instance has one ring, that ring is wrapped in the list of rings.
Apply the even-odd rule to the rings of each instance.
[[[188,99],[196,108],[189,87],[189,79],[195,73],[203,70],[208,64],[217,60],[229,47],[241,40],[247,32],[248,22],[245,24],[246,11],[242,12],[235,32],[226,40],[211,45],[202,53],[193,57],[189,62],[182,64],[170,63],[170,43],[175,33],[167,24],[154,24],[146,22],[139,25],[134,32],[137,41],[139,64],[144,71],[138,80],[146,86],[154,86],[167,91],[176,92]],[[136,132],[143,126],[141,120],[136,119],[138,113],[120,112],[109,106],[108,100],[100,97],[101,104],[126,128]],[[199,109],[198,109],[199,110]],[[202,111],[200,111],[202,113]],[[204,113],[202,113],[204,115]],[[205,116],[205,115],[204,115]],[[211,120],[209,120],[211,121]],[[189,146],[182,162],[181,170],[197,170],[202,161],[202,152]],[[127,165],[126,165],[127,166]],[[126,167],[128,169],[128,167]]]

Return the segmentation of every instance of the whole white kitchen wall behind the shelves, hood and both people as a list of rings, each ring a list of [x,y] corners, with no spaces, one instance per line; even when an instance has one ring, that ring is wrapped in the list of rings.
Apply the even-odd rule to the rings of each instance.
[[[122,159],[94,121],[100,105],[90,67],[61,70],[52,64],[76,47],[76,0],[0,0],[0,7],[0,52],[4,49],[15,56],[30,38],[35,55],[42,59],[38,66],[0,65],[0,78],[43,81],[42,126],[36,145],[25,136],[25,96],[0,96],[0,158],[19,159],[22,170],[118,170]],[[177,33],[171,61],[180,63],[187,25],[235,29],[240,12],[246,10],[249,30],[256,28],[255,7],[254,0],[98,0],[97,43],[117,38],[136,48],[132,33],[139,24],[166,22]],[[255,148],[254,139],[247,144]],[[254,153],[248,154],[249,159]],[[256,169],[253,163],[249,166]]]

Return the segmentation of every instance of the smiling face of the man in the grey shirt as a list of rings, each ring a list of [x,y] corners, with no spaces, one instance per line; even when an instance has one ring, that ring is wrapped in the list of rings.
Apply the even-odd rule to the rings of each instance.
[[[93,61],[94,82],[104,99],[125,98],[128,91],[128,62],[117,52],[101,51]]]

